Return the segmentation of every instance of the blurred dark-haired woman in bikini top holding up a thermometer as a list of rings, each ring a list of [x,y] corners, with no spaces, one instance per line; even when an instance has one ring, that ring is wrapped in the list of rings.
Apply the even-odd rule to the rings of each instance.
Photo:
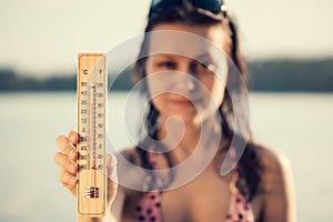
[[[208,40],[223,51],[240,70],[242,78],[246,79],[244,61],[239,49],[238,30],[222,1],[153,0],[145,32],[167,33],[163,32],[165,30]],[[105,221],[295,221],[292,178],[287,161],[282,155],[254,143],[251,138],[244,152],[241,148],[236,148],[241,147],[240,143],[234,150],[231,148],[233,138],[246,141],[242,132],[249,131],[249,125],[246,121],[240,119],[239,124],[245,130],[238,133],[233,123],[232,118],[238,115],[233,107],[236,101],[232,101],[231,94],[242,97],[245,89],[241,83],[234,83],[232,89],[225,88],[223,82],[233,81],[230,65],[229,74],[218,75],[213,59],[194,58],[193,54],[196,52],[189,52],[193,57],[180,53],[151,53],[155,48],[164,46],[161,39],[158,40],[160,41],[154,41],[151,36],[144,38],[140,58],[135,63],[135,79],[144,80],[143,93],[151,98],[145,119],[148,137],[137,148],[122,152],[122,157],[132,164],[152,170],[151,178],[149,182],[139,180],[144,183],[143,186],[145,185],[141,191],[118,185],[109,180],[108,205],[112,208],[112,212],[110,211]],[[176,44],[178,48],[182,48],[185,42],[178,38],[169,41],[181,41],[182,43]],[[198,44],[192,43],[185,44],[182,50],[196,49],[194,46]],[[204,48],[200,50],[204,51]],[[171,72],[174,73],[170,74]],[[155,73],[160,73],[160,78],[155,78],[158,77]],[[170,80],[168,83],[168,79],[175,81]],[[159,90],[165,85],[170,85],[173,91],[161,93]],[[210,101],[214,101],[215,105],[210,107],[208,104]],[[202,114],[198,111],[200,107],[210,108]],[[181,131],[176,127],[179,121],[168,123],[171,117],[181,120]],[[202,145],[200,142],[202,132],[218,137],[213,137],[214,140],[206,137],[204,140],[209,142]],[[182,134],[180,141],[172,142],[172,138],[179,139],[179,134]],[[218,143],[212,142],[216,141],[216,138]],[[78,134],[74,131],[68,137],[59,137],[57,144],[62,152],[54,155],[54,161],[61,167],[59,180],[74,195],[78,182],[75,179],[78,154],[74,149],[77,143]],[[178,170],[169,171],[167,178],[162,174],[159,178],[160,175],[154,173],[159,172],[158,170],[174,169],[186,162],[196,147],[202,148],[203,152],[200,152],[194,161],[198,164],[206,159],[210,161],[191,180],[176,184],[176,181],[185,175]],[[205,154],[214,148],[216,150],[212,152],[213,157],[206,158]],[[228,153],[235,161],[231,164],[232,170],[221,175],[221,165],[226,160]],[[240,160],[236,160],[238,155],[241,157]],[[111,171],[110,165],[113,161],[108,162]],[[131,174],[131,169],[123,171]],[[120,179],[124,175],[123,171],[119,170]],[[189,170],[186,172],[191,173]],[[102,220],[78,216],[78,221]]]

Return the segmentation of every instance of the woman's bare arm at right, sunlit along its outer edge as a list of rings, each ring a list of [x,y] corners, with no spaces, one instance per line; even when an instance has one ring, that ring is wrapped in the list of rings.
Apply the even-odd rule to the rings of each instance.
[[[282,154],[268,151],[263,162],[263,221],[295,222],[294,182],[289,160]]]

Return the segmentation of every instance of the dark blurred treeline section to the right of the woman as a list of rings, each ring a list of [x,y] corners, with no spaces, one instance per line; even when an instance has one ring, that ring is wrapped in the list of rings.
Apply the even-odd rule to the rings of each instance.
[[[333,58],[249,62],[252,91],[333,92]]]

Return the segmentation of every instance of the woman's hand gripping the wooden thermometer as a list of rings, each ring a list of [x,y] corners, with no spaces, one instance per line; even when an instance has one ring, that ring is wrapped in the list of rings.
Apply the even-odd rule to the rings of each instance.
[[[77,173],[78,173],[78,151],[75,145],[79,142],[79,135],[75,131],[71,130],[65,135],[60,135],[57,138],[57,147],[61,150],[53,157],[54,162],[60,165],[59,170],[59,181],[65,186],[74,196],[77,196]],[[115,170],[115,158],[111,154],[107,154],[107,172],[108,172],[108,206],[113,202],[117,194],[118,184],[114,181],[117,176]],[[112,180],[113,181],[112,181]]]

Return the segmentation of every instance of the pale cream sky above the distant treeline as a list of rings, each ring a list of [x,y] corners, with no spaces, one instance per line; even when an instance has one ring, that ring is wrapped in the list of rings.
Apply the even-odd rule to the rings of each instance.
[[[0,0],[0,68],[36,77],[77,69],[142,33],[151,0]],[[332,0],[229,0],[248,59],[333,57]]]

